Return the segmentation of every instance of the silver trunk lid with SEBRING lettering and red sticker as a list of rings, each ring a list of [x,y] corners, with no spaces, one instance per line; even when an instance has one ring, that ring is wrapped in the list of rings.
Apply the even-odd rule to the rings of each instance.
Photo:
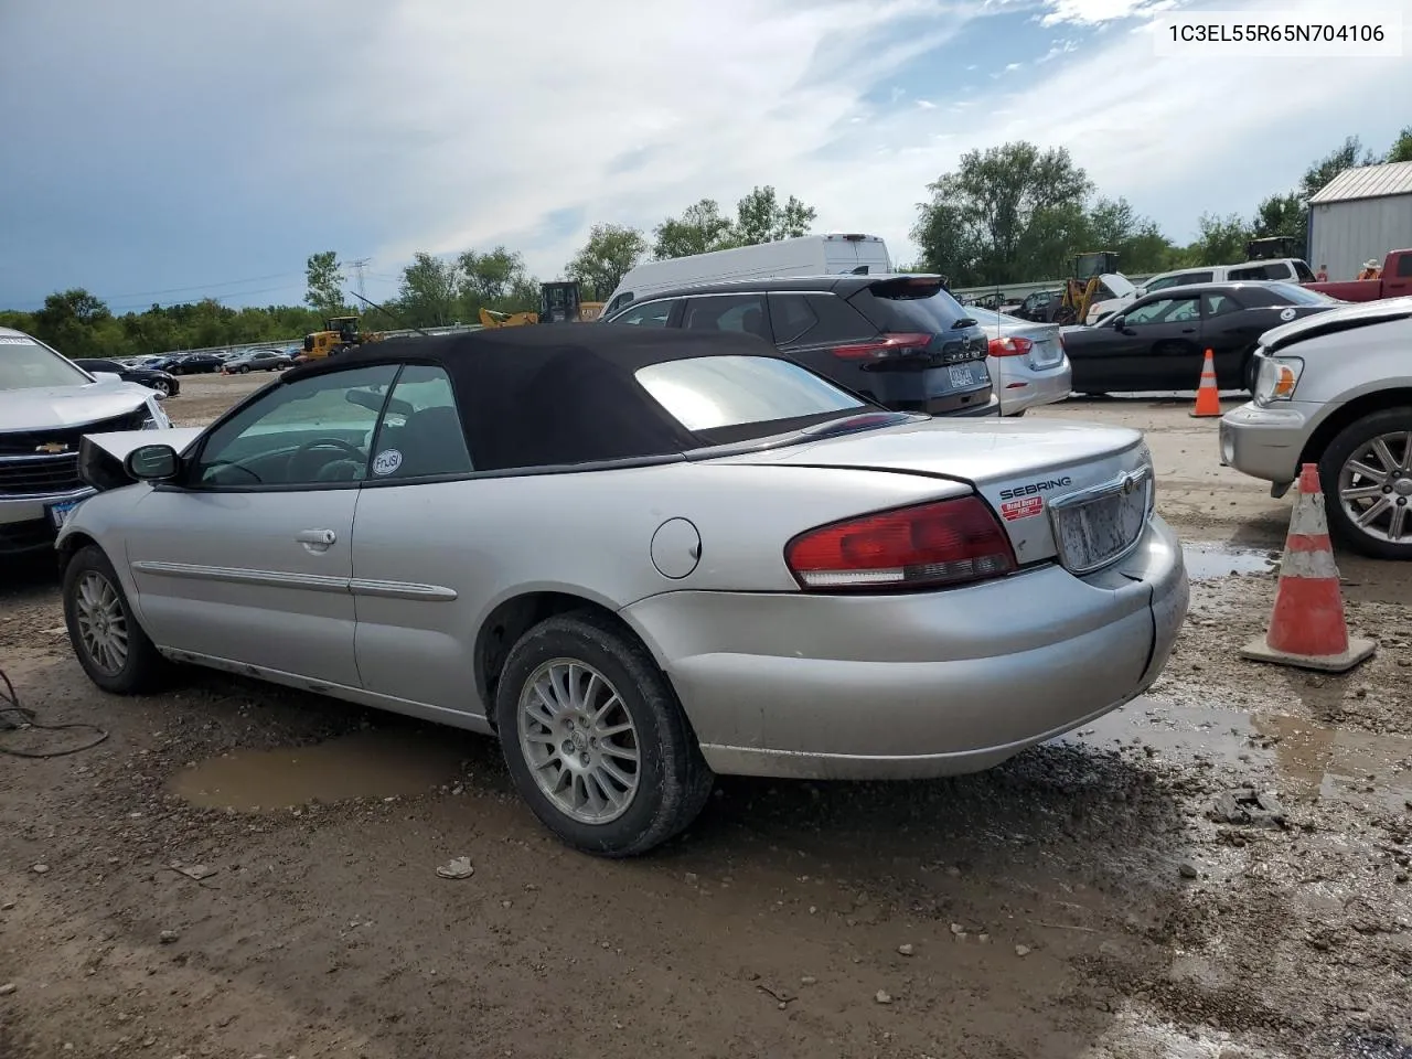
[[[995,511],[1021,565],[1058,558],[1076,573],[1125,555],[1152,513],[1152,456],[1125,428],[925,419],[714,462],[962,481]]]

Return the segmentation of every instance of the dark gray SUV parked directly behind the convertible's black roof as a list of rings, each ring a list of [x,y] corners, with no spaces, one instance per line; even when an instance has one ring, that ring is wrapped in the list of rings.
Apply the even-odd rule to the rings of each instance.
[[[1000,415],[980,325],[936,275],[820,275],[661,291],[606,322],[743,330],[887,408]]]

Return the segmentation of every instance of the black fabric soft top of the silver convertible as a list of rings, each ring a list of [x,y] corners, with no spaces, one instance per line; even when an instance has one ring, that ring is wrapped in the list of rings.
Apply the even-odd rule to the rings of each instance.
[[[435,364],[450,377],[476,469],[505,470],[675,456],[730,441],[688,431],[634,376],[650,364],[717,356],[784,359],[744,333],[541,323],[370,342],[291,369],[282,381]]]

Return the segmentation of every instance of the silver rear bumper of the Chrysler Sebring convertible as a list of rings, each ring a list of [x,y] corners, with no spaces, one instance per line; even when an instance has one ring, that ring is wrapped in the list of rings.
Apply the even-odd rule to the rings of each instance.
[[[1087,578],[1051,565],[904,596],[678,592],[624,609],[717,772],[918,778],[988,768],[1144,692],[1187,606],[1154,518]]]

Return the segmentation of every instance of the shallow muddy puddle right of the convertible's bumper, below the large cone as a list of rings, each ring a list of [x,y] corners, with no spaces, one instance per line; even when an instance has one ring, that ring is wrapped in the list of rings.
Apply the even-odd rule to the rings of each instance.
[[[1275,713],[1168,706],[1152,699],[1083,729],[1094,747],[1144,744],[1159,755],[1268,770],[1281,796],[1378,802],[1399,810],[1412,798],[1412,738],[1323,727]]]

